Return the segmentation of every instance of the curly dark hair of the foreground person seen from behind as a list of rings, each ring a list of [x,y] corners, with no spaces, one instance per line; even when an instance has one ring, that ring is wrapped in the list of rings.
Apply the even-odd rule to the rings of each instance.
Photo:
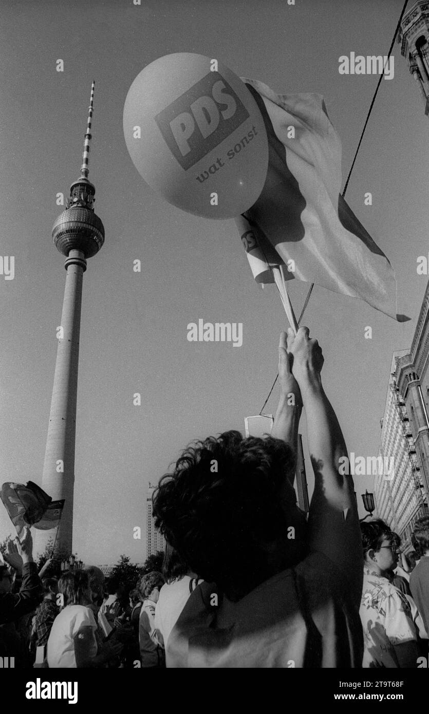
[[[194,573],[237,599],[237,583],[248,591],[273,575],[264,546],[291,523],[281,491],[295,468],[291,447],[271,436],[226,431],[197,441],[153,494],[156,528]],[[289,491],[287,507],[297,512]]]

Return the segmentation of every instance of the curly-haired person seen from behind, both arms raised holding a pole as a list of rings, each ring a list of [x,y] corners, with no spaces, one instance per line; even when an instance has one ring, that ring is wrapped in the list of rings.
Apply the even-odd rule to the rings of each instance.
[[[161,478],[156,527],[205,581],[171,630],[168,667],[360,667],[358,513],[322,366],[308,328],[282,333],[271,436],[206,438]],[[293,489],[303,408],[315,474],[308,523]]]

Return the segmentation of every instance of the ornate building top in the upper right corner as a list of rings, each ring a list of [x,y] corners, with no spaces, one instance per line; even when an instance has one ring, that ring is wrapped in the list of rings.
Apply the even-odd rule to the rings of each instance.
[[[429,3],[420,0],[404,14],[398,32],[400,53],[406,57],[429,114]]]

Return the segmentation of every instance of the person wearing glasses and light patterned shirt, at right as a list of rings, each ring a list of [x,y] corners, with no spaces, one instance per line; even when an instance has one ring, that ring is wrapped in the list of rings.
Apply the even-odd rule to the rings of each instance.
[[[417,668],[418,610],[412,598],[388,579],[396,564],[395,533],[379,518],[361,523],[360,529],[364,558],[359,610],[365,645],[362,666]]]

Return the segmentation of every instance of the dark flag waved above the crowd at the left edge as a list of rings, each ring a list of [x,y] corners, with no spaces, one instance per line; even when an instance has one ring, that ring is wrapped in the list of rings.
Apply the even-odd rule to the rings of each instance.
[[[64,506],[64,499],[52,501],[51,497],[32,481],[26,486],[22,483],[4,483],[0,489],[0,498],[19,537],[25,526],[34,526],[41,530],[56,528]]]

